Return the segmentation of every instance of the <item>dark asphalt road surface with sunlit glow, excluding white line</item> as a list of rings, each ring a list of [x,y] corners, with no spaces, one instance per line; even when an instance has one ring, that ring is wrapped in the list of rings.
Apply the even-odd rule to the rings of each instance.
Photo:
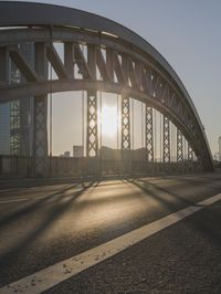
[[[0,287],[221,192],[221,175],[0,190]],[[221,293],[221,203],[46,293]]]

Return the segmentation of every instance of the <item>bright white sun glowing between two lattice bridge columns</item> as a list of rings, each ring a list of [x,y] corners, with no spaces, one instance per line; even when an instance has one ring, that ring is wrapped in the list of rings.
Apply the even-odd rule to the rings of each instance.
[[[102,135],[114,137],[117,134],[117,109],[114,106],[102,107]]]

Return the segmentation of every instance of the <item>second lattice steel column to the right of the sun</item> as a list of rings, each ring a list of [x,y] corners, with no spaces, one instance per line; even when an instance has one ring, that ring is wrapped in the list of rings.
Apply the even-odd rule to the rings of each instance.
[[[147,150],[147,159],[150,162],[154,162],[154,138],[152,138],[152,108],[146,105],[146,115],[145,115],[145,147]]]

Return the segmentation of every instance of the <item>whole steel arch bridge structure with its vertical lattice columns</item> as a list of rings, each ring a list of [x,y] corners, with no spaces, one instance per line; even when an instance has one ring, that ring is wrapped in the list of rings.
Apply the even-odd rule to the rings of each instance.
[[[108,19],[51,4],[0,2],[0,103],[34,96],[35,169],[48,157],[46,95],[65,91],[87,93],[86,155],[97,155],[97,91],[122,96],[122,149],[130,149],[129,97],[146,105],[146,149],[154,161],[152,108],[164,116],[164,162],[170,161],[170,122],[177,127],[177,161],[197,158],[201,170],[213,169],[203,126],[182,82],[143,38]],[[34,64],[22,54],[21,44],[34,46]],[[64,57],[55,50],[61,43]],[[9,63],[22,74],[9,81]],[[56,73],[49,75],[49,64]]]

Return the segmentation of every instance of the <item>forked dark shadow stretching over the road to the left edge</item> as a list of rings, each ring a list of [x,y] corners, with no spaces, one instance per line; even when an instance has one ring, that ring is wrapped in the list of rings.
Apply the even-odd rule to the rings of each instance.
[[[65,192],[77,187],[82,186],[80,191],[74,191],[72,195],[65,196]],[[51,193],[43,199],[38,200],[34,203],[25,206],[25,208],[21,208],[19,211],[12,212],[4,218],[1,218],[0,225],[3,227],[6,224],[15,223],[19,218],[24,217],[27,214],[36,212],[42,208],[43,204],[46,203],[48,200],[52,199],[52,208],[49,209],[49,212],[45,213],[46,217],[41,220],[41,223],[36,225],[30,233],[25,235],[22,241],[17,244],[10,246],[10,249],[6,250],[3,254],[0,255],[0,265],[4,269],[12,266],[17,263],[19,255],[25,252],[25,249],[29,248],[35,240],[39,238],[44,231],[46,231],[54,222],[63,216],[66,210],[70,209],[70,206],[78,199],[87,189],[93,186],[97,186],[98,183],[95,181],[91,181],[87,185],[82,182],[80,185],[71,185],[64,189],[59,190],[55,193]],[[66,199],[65,199],[66,198]],[[65,200],[65,201],[64,201]],[[11,244],[10,244],[11,245]]]

